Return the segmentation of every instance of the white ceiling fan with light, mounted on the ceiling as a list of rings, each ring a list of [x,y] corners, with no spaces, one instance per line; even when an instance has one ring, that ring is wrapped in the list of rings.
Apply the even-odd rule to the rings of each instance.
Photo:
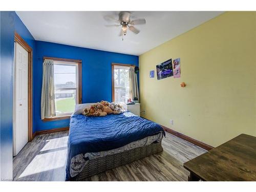
[[[131,15],[132,13],[129,11],[120,11],[118,14],[118,20],[116,20],[112,15],[106,15],[104,16],[104,19],[107,21],[111,21],[111,22],[115,22],[118,24],[114,24],[114,25],[105,25],[106,27],[119,27],[121,26],[121,31],[119,36],[126,35],[127,33],[127,29],[131,30],[132,32],[134,32],[135,34],[138,34],[140,32],[140,30],[138,30],[137,28],[135,28],[135,25],[143,25],[146,24],[146,20],[144,18],[142,19],[135,19],[135,20],[131,20]],[[123,38],[122,38],[123,40]]]

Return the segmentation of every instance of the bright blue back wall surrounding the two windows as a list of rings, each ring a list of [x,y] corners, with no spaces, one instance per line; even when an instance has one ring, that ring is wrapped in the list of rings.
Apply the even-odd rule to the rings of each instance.
[[[42,57],[59,57],[82,60],[82,102],[112,100],[111,63],[139,65],[138,56],[79,48],[45,41],[36,41],[34,75],[34,121],[36,131],[69,126],[69,120],[43,122],[40,117]]]

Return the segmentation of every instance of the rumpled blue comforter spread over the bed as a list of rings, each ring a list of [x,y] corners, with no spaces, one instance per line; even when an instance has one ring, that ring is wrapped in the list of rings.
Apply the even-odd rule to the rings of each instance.
[[[66,180],[72,157],[102,152],[163,132],[162,127],[130,112],[104,117],[72,115],[68,140]]]

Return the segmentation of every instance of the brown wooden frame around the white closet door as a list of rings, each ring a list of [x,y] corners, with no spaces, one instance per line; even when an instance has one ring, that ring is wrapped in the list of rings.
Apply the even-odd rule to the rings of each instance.
[[[28,52],[28,140],[33,140],[33,50],[27,42],[14,33],[14,41]]]

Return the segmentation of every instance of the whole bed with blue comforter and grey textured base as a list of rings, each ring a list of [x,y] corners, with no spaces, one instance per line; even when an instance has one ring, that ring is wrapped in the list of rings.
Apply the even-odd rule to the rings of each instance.
[[[162,127],[131,112],[104,117],[72,115],[66,181],[82,181],[163,151]]]

